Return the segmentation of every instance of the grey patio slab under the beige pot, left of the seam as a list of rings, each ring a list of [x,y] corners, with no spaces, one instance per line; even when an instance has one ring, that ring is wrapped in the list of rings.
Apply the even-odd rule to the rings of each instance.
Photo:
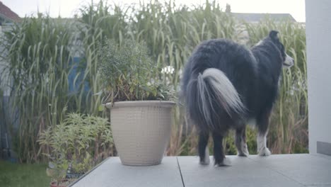
[[[174,186],[182,187],[176,157],[165,157],[156,166],[124,166],[119,157],[100,164],[88,175],[72,185],[74,187]]]

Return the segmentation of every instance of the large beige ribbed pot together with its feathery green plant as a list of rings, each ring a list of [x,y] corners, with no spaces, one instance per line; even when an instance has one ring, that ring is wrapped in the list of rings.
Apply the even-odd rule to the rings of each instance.
[[[170,139],[175,91],[165,84],[146,45],[106,40],[98,50],[103,103],[122,164],[160,164]]]

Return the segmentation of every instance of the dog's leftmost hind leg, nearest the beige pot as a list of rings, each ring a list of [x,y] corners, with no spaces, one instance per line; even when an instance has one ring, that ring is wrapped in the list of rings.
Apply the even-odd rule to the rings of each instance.
[[[209,140],[209,132],[199,132],[199,145],[198,145],[199,157],[200,157],[199,163],[204,165],[210,163],[208,140]]]

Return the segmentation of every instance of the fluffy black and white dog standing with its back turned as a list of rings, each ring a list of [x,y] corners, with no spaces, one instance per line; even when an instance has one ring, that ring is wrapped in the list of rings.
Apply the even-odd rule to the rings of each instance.
[[[266,136],[281,67],[294,64],[277,33],[272,30],[250,50],[231,40],[214,39],[202,42],[192,53],[181,86],[187,113],[199,130],[201,164],[209,164],[209,135],[214,141],[214,164],[228,164],[222,142],[231,128],[236,130],[238,156],[248,156],[245,126],[250,120],[258,129],[258,154],[270,154]]]

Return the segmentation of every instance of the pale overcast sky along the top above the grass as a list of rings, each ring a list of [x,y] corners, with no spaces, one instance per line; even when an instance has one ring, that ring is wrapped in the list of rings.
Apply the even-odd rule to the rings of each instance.
[[[0,0],[12,11],[18,13],[18,16],[24,17],[31,13],[48,12],[50,16],[69,18],[74,16],[75,11],[82,5],[87,5],[90,0]],[[99,0],[94,0],[98,2]],[[149,0],[145,0],[149,2]],[[159,0],[163,1],[163,0]],[[212,1],[212,0],[209,0]],[[139,3],[134,0],[110,0],[115,4]],[[204,3],[204,0],[175,0],[176,4]],[[225,10],[226,4],[231,5],[232,12],[238,13],[291,13],[299,22],[306,21],[305,0],[219,0],[221,8]]]

